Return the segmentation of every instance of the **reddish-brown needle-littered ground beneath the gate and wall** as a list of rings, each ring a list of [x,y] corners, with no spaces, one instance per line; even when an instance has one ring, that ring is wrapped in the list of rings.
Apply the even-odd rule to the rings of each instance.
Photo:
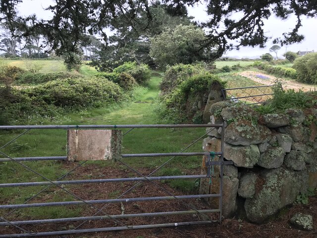
[[[64,167],[69,169],[69,165],[65,164]],[[140,172],[147,174],[150,170],[141,170]],[[97,165],[88,165],[80,167],[74,171],[67,179],[83,179],[88,175],[95,175],[96,178],[123,178],[127,176],[129,171],[120,169],[118,167],[107,166],[101,168]],[[131,176],[131,175],[130,175]],[[172,192],[175,195],[183,195],[184,193],[174,190],[166,183],[160,183],[164,189]],[[105,199],[115,198],[121,192],[131,187],[134,182],[126,183],[100,183],[100,184],[82,184],[69,187],[69,190],[80,196],[83,199]],[[56,192],[58,188],[52,188],[49,193],[44,196],[34,199],[33,202],[45,202],[49,199],[50,194]],[[110,194],[112,194],[110,196]],[[143,182],[142,185],[132,190],[129,194],[124,195],[123,198],[128,197],[150,197],[150,196],[166,196],[167,194],[153,183]],[[208,205],[201,200],[186,199],[186,203],[195,206],[197,209],[209,209]],[[102,208],[105,204],[96,204],[98,208]],[[75,208],[75,207],[74,207]],[[163,211],[182,211],[190,210],[185,204],[179,200],[166,200],[166,201],[150,201],[150,202],[136,202],[136,203],[115,203],[108,204],[104,211],[107,214],[125,214],[131,213],[148,213],[148,212],[163,212]],[[293,214],[302,212],[310,214],[314,219],[314,230],[300,231],[290,227],[289,219]],[[81,215],[93,216],[96,213],[94,208],[85,206]],[[217,219],[216,214],[209,215],[211,220]],[[12,217],[13,218],[13,217]],[[12,220],[21,220],[15,217]],[[31,220],[31,219],[30,219]],[[134,219],[120,219],[120,222],[126,225],[148,225],[160,223],[175,223],[175,222],[188,222],[188,221],[202,221],[203,217],[197,215],[182,215],[182,216],[166,216],[166,217],[143,217]],[[81,222],[74,223],[56,223],[44,224],[36,226],[23,226],[24,229],[32,232],[44,231],[58,231],[58,230],[72,230],[80,225]],[[80,226],[81,229],[85,228],[102,228],[102,227],[117,227],[122,226],[117,221],[113,220],[99,220],[89,221]],[[0,227],[0,234],[19,233],[18,229],[13,227]],[[177,228],[156,228],[156,229],[141,229],[141,230],[128,230],[121,232],[102,232],[102,233],[87,233],[75,235],[62,235],[51,238],[316,238],[317,237],[317,196],[310,197],[308,205],[294,204],[276,216],[276,220],[267,222],[263,225],[249,223],[245,220],[237,218],[224,219],[222,225],[217,223],[204,226],[186,226]]]

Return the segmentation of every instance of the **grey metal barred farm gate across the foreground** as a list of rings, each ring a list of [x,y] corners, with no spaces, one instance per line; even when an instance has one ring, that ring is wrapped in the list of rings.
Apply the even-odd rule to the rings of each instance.
[[[10,143],[14,142],[19,137],[23,136],[25,133],[27,133],[30,130],[41,130],[41,129],[72,129],[80,131],[80,129],[121,129],[121,128],[130,128],[128,131],[126,131],[123,136],[127,133],[129,133],[134,128],[174,128],[174,127],[208,127],[208,131],[199,137],[197,140],[193,141],[191,144],[186,146],[184,149],[182,149],[180,152],[177,153],[151,153],[151,154],[122,154],[122,159],[116,160],[116,163],[120,164],[121,166],[125,166],[127,170],[132,172],[134,175],[137,175],[137,177],[129,177],[129,178],[114,178],[114,179],[83,179],[83,180],[63,180],[67,175],[74,172],[77,168],[79,168],[81,165],[87,162],[82,161],[81,163],[74,164],[76,165],[74,168],[72,168],[70,171],[65,173],[63,176],[61,176],[57,180],[51,180],[47,178],[45,174],[41,174],[38,171],[35,171],[34,169],[31,169],[28,165],[26,165],[26,161],[43,161],[43,160],[61,160],[65,161],[67,159],[66,156],[55,156],[55,157],[21,157],[21,158],[12,158],[7,153],[3,152],[4,147],[8,146]],[[195,144],[200,139],[204,138],[211,130],[221,128],[222,131],[222,137],[221,137],[221,151],[215,151],[215,152],[191,152],[191,153],[185,153],[184,151],[190,148],[193,144]],[[106,231],[120,231],[120,230],[130,230],[130,229],[146,229],[146,228],[163,228],[163,227],[177,227],[177,226],[187,226],[187,225],[202,225],[202,224],[211,224],[213,221],[210,216],[208,216],[208,213],[219,213],[218,222],[221,223],[221,217],[222,217],[222,166],[225,164],[231,164],[229,161],[224,162],[223,161],[223,148],[224,148],[224,127],[223,124],[144,124],[144,125],[21,125],[21,126],[0,126],[0,131],[2,130],[14,130],[15,133],[17,133],[18,130],[24,131],[17,135],[15,138],[11,139],[6,144],[0,146],[0,157],[3,157],[0,159],[1,163],[12,163],[12,166],[15,167],[24,167],[26,170],[34,173],[34,175],[37,175],[38,177],[42,178],[43,181],[38,182],[28,182],[23,181],[19,183],[1,183],[0,188],[3,187],[21,187],[20,189],[23,189],[23,187],[26,186],[43,186],[46,185],[44,189],[41,189],[38,193],[32,194],[29,199],[27,199],[23,204],[0,204],[0,211],[2,214],[0,216],[0,228],[2,228],[2,231],[6,231],[4,234],[3,232],[0,233],[0,238],[4,237],[39,237],[39,236],[58,236],[58,235],[71,235],[71,234],[79,234],[79,233],[91,233],[91,232],[106,232]],[[164,167],[166,164],[168,164],[170,161],[172,161],[177,156],[207,156],[206,160],[206,166],[208,168],[208,173],[205,175],[182,175],[182,176],[156,176],[152,177],[152,175],[157,172],[159,169]],[[218,161],[214,161],[214,155],[219,157]],[[130,165],[128,165],[125,161],[126,158],[132,158],[132,157],[149,157],[151,160],[155,160],[155,157],[170,157],[167,161],[165,161],[162,165],[157,167],[154,171],[152,171],[149,174],[142,174],[137,169],[132,168]],[[33,162],[33,163],[40,163],[40,162]],[[71,162],[70,162],[71,163]],[[162,183],[157,183],[155,181],[158,180],[167,180],[167,179],[206,179],[210,178],[211,180],[211,173],[213,170],[213,166],[217,165],[219,166],[219,192],[217,194],[196,194],[196,195],[174,195],[172,192],[168,191],[166,188],[162,186]],[[128,181],[137,181],[136,184],[129,187],[125,192],[123,192],[121,195],[116,196],[115,199],[99,199],[99,200],[85,200],[82,199],[79,195],[76,195],[74,192],[69,191],[65,188],[65,185],[69,184],[88,184],[88,183],[96,183],[96,186],[98,184],[102,183],[112,183],[112,182],[128,182]],[[163,191],[166,196],[154,196],[154,197],[128,197],[123,198],[126,196],[129,192],[131,192],[134,189],[138,189],[138,185],[142,182],[149,182],[150,184],[154,185],[158,190]],[[47,191],[47,189],[51,186],[56,186],[57,188],[63,190],[70,196],[72,196],[75,200],[73,201],[60,201],[60,202],[36,202],[32,203],[32,199],[39,196],[41,193]],[[198,210],[196,209],[191,203],[185,202],[186,199],[198,199],[198,198],[218,198],[219,200],[219,207],[217,209],[208,209],[208,210]],[[121,203],[121,204],[127,204],[127,203],[133,203],[138,201],[162,201],[162,200],[177,200],[180,204],[187,207],[186,210],[183,211],[164,211],[164,212],[155,212],[155,213],[135,213],[135,214],[108,214],[108,208],[109,206],[113,206],[113,204]],[[106,204],[103,207],[97,207],[98,204]],[[88,205],[87,209],[94,209],[94,215],[93,216],[82,216],[82,217],[67,217],[67,218],[56,218],[56,219],[43,219],[43,220],[27,220],[27,221],[21,221],[18,219],[10,219],[9,218],[13,212],[15,212],[17,209],[21,208],[35,208],[40,207],[41,209],[46,209],[50,206],[72,206],[76,207],[77,205]],[[5,211],[6,213],[4,213]],[[126,225],[127,219],[132,218],[138,218],[138,217],[159,217],[159,216],[186,216],[188,214],[191,214],[191,216],[187,216],[189,218],[189,221],[186,222],[172,222],[172,223],[160,223],[160,224],[144,224],[144,225]],[[199,221],[191,221],[190,218],[193,218],[193,214],[196,214],[196,217],[199,217]],[[85,228],[83,229],[83,224],[90,222],[90,221],[96,221],[96,220],[105,220],[105,221],[113,221],[112,226],[109,225],[108,227],[94,227],[94,228]],[[72,229],[68,230],[50,230],[45,232],[35,232],[32,229],[32,226],[38,226],[44,224],[44,226],[48,224],[53,223],[67,223],[70,222],[82,222],[77,226],[73,226]],[[4,230],[3,230],[4,228]],[[57,227],[58,228],[58,227]],[[14,233],[9,233],[10,230],[14,231]],[[0,230],[1,231],[1,230]]]

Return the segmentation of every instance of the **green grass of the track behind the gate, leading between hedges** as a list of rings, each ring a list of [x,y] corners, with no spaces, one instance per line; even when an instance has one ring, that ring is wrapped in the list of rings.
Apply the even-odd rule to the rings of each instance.
[[[88,71],[88,70],[87,70]],[[86,72],[87,72],[86,71]],[[158,85],[161,77],[154,76],[151,78],[147,87],[138,87],[134,91],[134,100],[125,102],[107,108],[97,108],[83,110],[77,114],[68,114],[64,116],[64,120],[58,121],[62,124],[152,124],[158,122],[155,111],[159,89]],[[44,121],[44,124],[52,124],[52,122]],[[128,129],[123,129],[123,132]],[[22,131],[14,131],[8,133],[1,131],[0,145],[18,135]],[[17,139],[15,144],[5,148],[3,151],[11,157],[27,157],[27,156],[65,156],[66,155],[66,130],[31,130],[25,135]],[[135,128],[123,137],[123,153],[160,153],[160,152],[180,152],[187,145],[199,138],[205,133],[205,128]],[[186,152],[202,151],[202,141],[197,142]],[[2,156],[1,156],[2,157]],[[161,164],[170,159],[170,157],[153,158],[131,158],[123,161],[130,166],[142,170],[153,171]],[[168,174],[173,171],[181,171],[182,174],[199,174],[201,166],[201,157],[176,157],[171,163],[158,171],[155,175]],[[113,164],[117,163],[117,164]],[[46,162],[24,162],[27,166],[45,175],[49,179],[58,179],[61,175],[69,171],[69,167],[65,167],[65,163],[56,161]],[[132,171],[122,166],[119,162],[97,161],[89,162],[85,165],[97,164],[100,167],[116,166],[122,170],[126,170],[127,176],[138,176]],[[73,165],[74,167],[75,165]],[[169,171],[169,172],[168,172]],[[195,173],[196,172],[196,173]],[[176,172],[175,172],[176,173]],[[91,178],[94,179],[94,176]],[[0,183],[24,182],[24,181],[43,181],[44,179],[27,171],[25,168],[13,164],[12,162],[0,163]],[[179,180],[168,181],[171,187],[180,191],[190,193],[197,192],[197,181]],[[25,202],[33,194],[36,194],[44,187],[15,187],[0,188],[0,202],[19,204]],[[115,196],[116,194],[108,194]],[[68,195],[59,193],[47,197],[46,193],[40,195],[41,200],[73,200]],[[64,209],[64,210],[63,210]],[[23,209],[19,213],[20,217],[32,217],[34,219],[55,218],[66,216],[80,215],[81,209],[77,210],[72,207],[52,207],[50,209]]]

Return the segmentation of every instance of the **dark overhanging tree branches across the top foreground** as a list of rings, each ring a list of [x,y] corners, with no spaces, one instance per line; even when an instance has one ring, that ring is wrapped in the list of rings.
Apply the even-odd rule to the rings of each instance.
[[[53,12],[50,20],[37,19],[36,16],[21,17],[17,14],[17,4],[22,0],[1,0],[0,20],[13,35],[29,37],[35,30],[47,37],[52,50],[57,55],[80,54],[79,44],[88,41],[87,33],[101,36],[106,47],[109,44],[106,29],[116,29],[127,36],[140,35],[153,24],[154,13],[148,0],[54,0],[55,4],[47,10]],[[186,6],[194,5],[199,0],[164,0],[169,14],[183,16]],[[230,49],[242,46],[264,47],[269,39],[264,34],[264,19],[275,15],[286,19],[291,14],[297,22],[290,32],[284,32],[273,44],[292,44],[301,42],[303,35],[298,33],[301,17],[317,15],[316,0],[206,0],[208,20],[201,23],[208,31],[201,49],[216,46],[212,59]],[[239,14],[234,14],[239,12]],[[144,20],[140,16],[144,15]],[[223,24],[223,25],[222,25]],[[18,32],[22,32],[19,34]],[[134,38],[135,39],[135,38]]]

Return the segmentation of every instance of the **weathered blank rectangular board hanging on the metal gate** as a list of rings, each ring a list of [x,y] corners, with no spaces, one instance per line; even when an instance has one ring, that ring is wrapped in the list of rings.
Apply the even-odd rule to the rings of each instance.
[[[68,130],[67,160],[120,159],[121,141],[121,130]]]

